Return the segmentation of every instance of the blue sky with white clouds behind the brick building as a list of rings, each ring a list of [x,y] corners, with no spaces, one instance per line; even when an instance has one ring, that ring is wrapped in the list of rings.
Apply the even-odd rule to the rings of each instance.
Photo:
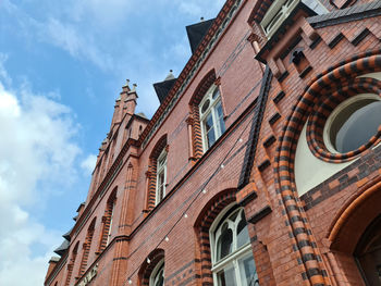
[[[136,112],[223,0],[0,0],[0,285],[40,286],[86,199],[125,79]]]

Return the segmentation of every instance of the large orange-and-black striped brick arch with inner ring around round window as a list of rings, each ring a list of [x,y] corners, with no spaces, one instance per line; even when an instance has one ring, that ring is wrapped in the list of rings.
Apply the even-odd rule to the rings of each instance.
[[[319,74],[305,89],[304,95],[297,99],[280,138],[274,169],[276,189],[281,194],[285,209],[284,216],[290,224],[290,237],[295,239],[299,253],[298,260],[303,261],[304,264],[305,272],[300,274],[310,282],[310,285],[330,285],[331,283],[327,277],[327,272],[316,248],[316,241],[295,186],[294,160],[297,141],[307,119],[310,116],[308,144],[310,148],[314,146],[315,149],[311,149],[316,156],[330,162],[342,162],[355,156],[351,153],[332,157],[322,147],[322,127],[329,113],[346,98],[365,90],[372,90],[371,92],[381,95],[377,80],[371,78],[356,79],[358,75],[380,70],[381,50],[377,50],[347,59]],[[361,150],[364,148],[360,147]]]

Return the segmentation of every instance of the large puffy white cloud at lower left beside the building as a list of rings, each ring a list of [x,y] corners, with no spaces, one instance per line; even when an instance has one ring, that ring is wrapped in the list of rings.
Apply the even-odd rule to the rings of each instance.
[[[75,182],[79,126],[51,97],[32,92],[28,85],[5,88],[3,82],[0,74],[0,281],[1,286],[37,286],[62,237],[28,210]]]

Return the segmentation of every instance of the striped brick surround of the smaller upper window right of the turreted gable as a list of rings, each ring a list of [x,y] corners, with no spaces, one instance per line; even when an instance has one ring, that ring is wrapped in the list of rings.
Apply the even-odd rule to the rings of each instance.
[[[167,134],[163,135],[157,141],[149,157],[149,165],[148,165],[149,185],[148,185],[147,210],[151,210],[155,208],[158,158],[164,148],[167,148],[167,152],[168,152],[169,147],[167,145]]]

